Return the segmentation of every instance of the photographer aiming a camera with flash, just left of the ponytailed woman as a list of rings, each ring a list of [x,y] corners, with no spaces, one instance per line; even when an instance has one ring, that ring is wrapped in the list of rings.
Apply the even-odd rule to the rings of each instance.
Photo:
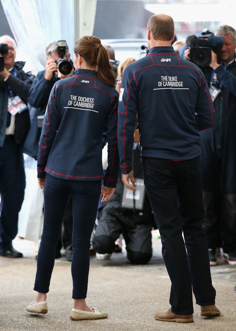
[[[62,42],[62,41],[61,41]],[[60,46],[59,42],[52,42],[46,48],[46,68],[40,71],[37,77],[34,78],[32,86],[28,95],[29,107],[34,111],[34,117],[31,119],[31,129],[27,136],[24,144],[24,153],[37,159],[39,140],[41,135],[41,127],[38,127],[37,116],[44,115],[46,107],[48,104],[51,89],[54,83],[60,79],[73,76],[74,66],[73,62],[70,60],[69,49],[64,41],[65,46]],[[63,59],[64,58],[64,59]],[[58,64],[62,63],[60,60],[64,61],[64,67],[58,68]],[[59,62],[59,63],[58,63]],[[69,65],[70,64],[70,65]],[[68,74],[62,74],[63,69],[71,70]],[[61,71],[60,71],[61,70]],[[32,106],[32,107],[31,107]],[[35,107],[35,109],[33,109]],[[69,208],[70,207],[70,208]],[[69,209],[66,212],[66,219],[64,220],[64,248],[66,249],[66,258],[71,261],[72,259],[72,246],[71,246],[71,236],[72,236],[72,202],[71,197],[69,200]],[[60,258],[60,249],[62,247],[61,241],[58,242],[58,247],[56,250],[55,258]]]

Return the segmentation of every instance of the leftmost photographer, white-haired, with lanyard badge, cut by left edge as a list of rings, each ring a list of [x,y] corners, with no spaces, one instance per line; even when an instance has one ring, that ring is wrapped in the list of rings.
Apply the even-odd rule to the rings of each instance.
[[[32,77],[15,62],[16,42],[0,37],[0,256],[20,258],[12,247],[18,231],[18,213],[24,199],[25,172],[22,145],[30,127],[27,97]]]

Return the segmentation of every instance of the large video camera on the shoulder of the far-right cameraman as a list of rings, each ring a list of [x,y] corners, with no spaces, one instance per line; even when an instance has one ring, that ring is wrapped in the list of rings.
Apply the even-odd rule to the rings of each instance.
[[[220,35],[214,35],[208,29],[193,34],[186,38],[186,46],[190,48],[190,61],[198,67],[209,66],[211,63],[213,50],[217,54],[219,61],[218,48],[222,47],[224,38]]]

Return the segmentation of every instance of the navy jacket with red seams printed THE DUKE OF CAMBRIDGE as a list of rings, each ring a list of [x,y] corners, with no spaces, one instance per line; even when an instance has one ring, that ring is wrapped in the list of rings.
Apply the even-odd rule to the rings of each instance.
[[[153,47],[123,72],[118,106],[121,172],[132,170],[136,114],[142,156],[187,160],[200,155],[198,131],[213,125],[214,111],[202,71],[173,47]]]

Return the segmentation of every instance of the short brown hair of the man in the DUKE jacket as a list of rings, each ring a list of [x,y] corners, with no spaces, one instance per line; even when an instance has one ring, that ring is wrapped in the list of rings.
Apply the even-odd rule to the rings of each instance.
[[[147,24],[154,40],[169,41],[173,38],[175,25],[171,16],[152,15]]]

